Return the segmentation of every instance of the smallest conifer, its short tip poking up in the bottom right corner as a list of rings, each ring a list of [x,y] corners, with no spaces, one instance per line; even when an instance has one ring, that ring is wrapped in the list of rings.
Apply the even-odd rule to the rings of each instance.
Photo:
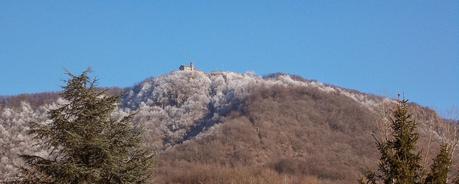
[[[446,184],[451,166],[451,152],[447,144],[440,146],[440,153],[435,157],[426,184]]]

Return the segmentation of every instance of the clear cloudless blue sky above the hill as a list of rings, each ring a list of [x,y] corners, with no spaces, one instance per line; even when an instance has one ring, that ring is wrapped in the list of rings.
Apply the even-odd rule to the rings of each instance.
[[[459,106],[459,1],[0,1],[0,95],[91,66],[131,86],[193,61]]]

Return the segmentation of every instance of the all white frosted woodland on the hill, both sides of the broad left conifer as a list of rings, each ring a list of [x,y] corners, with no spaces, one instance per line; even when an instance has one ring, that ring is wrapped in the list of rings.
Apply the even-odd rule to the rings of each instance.
[[[369,108],[376,108],[382,100],[286,74],[262,77],[253,73],[175,71],[123,90],[122,103],[112,115],[136,112],[132,121],[144,127],[144,143],[150,150],[160,151],[212,134],[247,96],[257,89],[271,87],[316,88],[349,96]],[[22,109],[8,104],[0,107],[0,181],[15,175],[15,166],[23,165],[18,153],[47,155],[46,150],[30,146],[36,140],[26,134],[27,122],[49,122],[47,112],[67,103],[63,99],[47,101],[36,108],[37,104],[24,101],[31,105]]]

